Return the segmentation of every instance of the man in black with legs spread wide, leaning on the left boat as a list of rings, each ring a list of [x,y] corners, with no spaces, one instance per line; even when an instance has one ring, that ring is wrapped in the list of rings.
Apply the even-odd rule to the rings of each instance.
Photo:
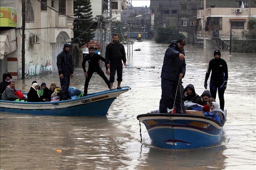
[[[94,72],[97,72],[98,75],[101,78],[103,78],[103,80],[105,81],[105,83],[107,84],[107,86],[110,89],[109,79],[107,79],[107,77],[104,75],[104,72],[101,70],[101,68],[99,66],[99,60],[105,62],[106,61],[105,58],[101,57],[98,54],[95,54],[94,53],[94,47],[92,47],[92,46],[89,47],[89,52],[90,52],[90,54],[86,55],[83,59],[83,62],[82,62],[82,67],[83,67],[83,70],[84,70],[84,77],[86,77],[85,84],[84,84],[84,96],[87,95],[88,84],[89,84],[90,79],[92,77],[92,74]],[[88,61],[88,64],[89,64],[87,72],[85,70],[86,61]],[[110,74],[107,67],[106,67],[106,73],[107,73],[107,75]]]

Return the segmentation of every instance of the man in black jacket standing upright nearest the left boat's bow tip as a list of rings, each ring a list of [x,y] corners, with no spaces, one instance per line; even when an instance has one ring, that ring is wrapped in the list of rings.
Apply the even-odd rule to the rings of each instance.
[[[118,34],[114,34],[112,36],[112,42],[107,44],[106,47],[106,64],[107,67],[110,68],[110,90],[113,89],[114,78],[117,72],[117,89],[121,89],[120,85],[122,82],[122,74],[123,74],[123,64],[124,62],[125,68],[126,66],[126,57],[124,45],[118,40]]]

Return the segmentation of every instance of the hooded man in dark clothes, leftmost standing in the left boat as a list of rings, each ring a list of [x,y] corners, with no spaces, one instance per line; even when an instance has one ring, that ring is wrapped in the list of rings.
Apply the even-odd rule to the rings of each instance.
[[[68,100],[68,87],[70,78],[73,78],[74,66],[72,55],[70,54],[70,44],[64,44],[63,51],[57,56],[57,67],[60,76],[61,100]]]

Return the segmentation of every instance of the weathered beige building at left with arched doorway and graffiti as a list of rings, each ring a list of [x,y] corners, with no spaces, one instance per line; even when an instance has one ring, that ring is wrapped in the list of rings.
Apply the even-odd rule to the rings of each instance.
[[[58,71],[57,55],[63,50],[63,45],[73,38],[73,0],[41,0],[54,10],[37,0],[26,1],[26,40],[25,40],[25,76],[44,75]],[[0,60],[1,73],[9,72],[13,78],[21,78],[21,26],[22,3],[20,0],[1,0],[1,7],[17,8],[17,29],[15,40],[17,50],[4,55]],[[63,15],[65,14],[65,15]],[[9,31],[9,27],[1,27]]]

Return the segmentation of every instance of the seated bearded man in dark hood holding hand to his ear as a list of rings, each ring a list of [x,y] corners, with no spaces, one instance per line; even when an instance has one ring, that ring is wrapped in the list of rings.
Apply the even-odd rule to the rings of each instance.
[[[196,94],[195,88],[192,84],[186,86],[184,93],[184,101],[188,100],[193,103],[203,105],[201,98],[198,94]]]

